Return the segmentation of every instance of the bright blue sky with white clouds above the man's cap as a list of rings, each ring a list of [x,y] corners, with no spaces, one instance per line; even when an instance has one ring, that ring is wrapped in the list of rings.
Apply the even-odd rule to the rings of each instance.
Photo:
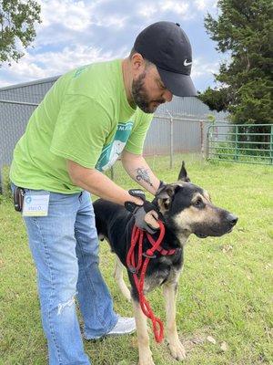
[[[25,56],[0,68],[0,88],[66,73],[96,61],[126,57],[137,34],[167,20],[179,23],[193,49],[192,78],[200,91],[214,87],[220,55],[204,17],[217,16],[216,0],[37,0],[42,23]],[[19,49],[21,45],[18,43]]]

